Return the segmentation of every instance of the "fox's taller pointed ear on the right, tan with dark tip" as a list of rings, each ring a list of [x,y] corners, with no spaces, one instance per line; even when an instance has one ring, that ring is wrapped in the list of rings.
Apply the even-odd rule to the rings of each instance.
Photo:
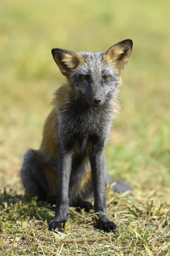
[[[126,39],[103,52],[103,58],[106,62],[122,71],[127,64],[128,58],[132,52],[133,41]]]

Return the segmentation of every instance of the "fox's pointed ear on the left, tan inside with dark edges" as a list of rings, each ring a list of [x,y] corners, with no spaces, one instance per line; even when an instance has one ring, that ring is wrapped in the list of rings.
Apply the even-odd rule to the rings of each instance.
[[[81,55],[64,49],[54,48],[51,52],[54,61],[64,76],[71,75],[71,73],[73,73],[83,61],[83,57]]]

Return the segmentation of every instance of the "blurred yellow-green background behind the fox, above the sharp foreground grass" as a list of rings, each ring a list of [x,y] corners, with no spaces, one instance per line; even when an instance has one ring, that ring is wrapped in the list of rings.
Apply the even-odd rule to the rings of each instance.
[[[64,82],[51,49],[98,51],[130,38],[108,172],[138,191],[170,192],[169,25],[169,0],[1,1],[0,188],[20,190],[22,155],[39,147],[53,93]]]

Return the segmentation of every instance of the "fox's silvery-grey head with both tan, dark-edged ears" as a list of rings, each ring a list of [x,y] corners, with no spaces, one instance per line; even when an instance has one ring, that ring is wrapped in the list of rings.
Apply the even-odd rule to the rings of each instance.
[[[127,39],[103,52],[74,53],[54,48],[52,55],[74,95],[98,107],[116,96],[132,47],[133,41]]]

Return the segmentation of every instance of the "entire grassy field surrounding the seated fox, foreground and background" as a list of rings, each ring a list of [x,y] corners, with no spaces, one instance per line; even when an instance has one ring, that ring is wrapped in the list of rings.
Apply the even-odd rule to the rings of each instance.
[[[169,10],[169,0],[0,3],[0,255],[170,255]],[[115,233],[94,230],[93,213],[74,208],[68,230],[49,232],[54,212],[25,201],[19,170],[64,81],[51,49],[97,51],[126,38],[134,47],[106,160],[134,196],[108,192]]]

